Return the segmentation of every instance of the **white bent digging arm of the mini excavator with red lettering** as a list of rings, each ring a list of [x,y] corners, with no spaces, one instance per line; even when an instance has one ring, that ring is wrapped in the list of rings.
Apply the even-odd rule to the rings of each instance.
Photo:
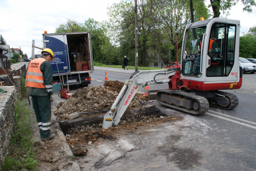
[[[111,110],[105,114],[103,129],[117,126],[126,108],[129,106],[139,88],[170,82],[169,76],[175,75],[179,68],[168,70],[136,71],[129,80],[124,81],[124,87],[115,99]]]

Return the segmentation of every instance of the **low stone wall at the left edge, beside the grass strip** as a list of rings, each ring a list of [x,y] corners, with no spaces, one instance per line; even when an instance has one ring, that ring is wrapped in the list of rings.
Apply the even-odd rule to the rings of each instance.
[[[8,151],[9,141],[14,126],[14,105],[17,93],[14,86],[0,86],[7,92],[0,92],[0,162]]]

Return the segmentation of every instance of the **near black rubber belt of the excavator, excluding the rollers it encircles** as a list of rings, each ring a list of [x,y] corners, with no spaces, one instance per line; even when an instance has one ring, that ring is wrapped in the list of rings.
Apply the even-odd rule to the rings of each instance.
[[[198,103],[199,109],[188,109],[184,106],[177,106],[174,105],[173,103],[168,103],[165,101],[161,100],[161,95],[162,94],[167,94],[167,95],[178,95],[180,97],[186,97],[188,99],[194,100]],[[156,94],[156,100],[159,102],[161,105],[167,106],[169,108],[177,109],[182,112],[190,113],[193,115],[198,115],[198,114],[203,114],[205,112],[208,112],[209,109],[209,102],[205,97],[194,95],[192,93],[187,93],[184,91],[175,91],[175,90],[159,90]]]

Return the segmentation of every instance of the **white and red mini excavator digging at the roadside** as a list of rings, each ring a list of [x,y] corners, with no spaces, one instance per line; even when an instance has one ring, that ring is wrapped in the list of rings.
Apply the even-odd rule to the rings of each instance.
[[[103,129],[118,125],[139,88],[156,84],[168,83],[169,86],[169,89],[157,91],[157,102],[182,112],[198,115],[208,112],[209,106],[235,108],[237,97],[220,90],[242,86],[239,33],[239,20],[214,18],[187,25],[182,42],[181,69],[134,72],[129,80],[125,80],[111,111],[106,113]],[[215,50],[211,49],[210,40],[217,44],[214,43]]]

